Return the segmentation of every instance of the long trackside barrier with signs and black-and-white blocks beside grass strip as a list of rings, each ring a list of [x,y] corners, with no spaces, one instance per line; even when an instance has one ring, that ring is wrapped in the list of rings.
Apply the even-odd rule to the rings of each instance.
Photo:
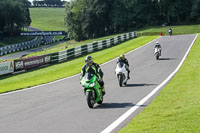
[[[77,58],[77,57],[80,57],[92,52],[96,52],[99,50],[103,50],[103,49],[115,46],[121,42],[124,42],[126,40],[129,40],[135,37],[137,37],[137,33],[130,32],[130,33],[123,34],[121,36],[114,37],[114,38],[89,43],[86,45],[78,46],[75,48],[67,49],[64,51],[56,52],[56,53],[30,57],[30,58],[17,59],[17,60],[11,61],[12,63],[2,62],[4,64],[0,63],[0,75],[13,73],[13,72],[21,71],[21,70],[33,69],[45,64],[52,64],[52,63],[54,64],[54,63],[72,60],[74,58]],[[12,66],[13,64],[14,64],[14,67],[10,67],[11,69],[9,70],[5,69],[6,67]],[[1,69],[3,70],[2,73],[1,73]]]

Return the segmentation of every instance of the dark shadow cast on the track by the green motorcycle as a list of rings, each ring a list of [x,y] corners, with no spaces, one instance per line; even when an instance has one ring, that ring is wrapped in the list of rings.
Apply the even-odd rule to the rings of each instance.
[[[147,105],[136,105],[133,103],[103,103],[101,105],[94,107],[94,109],[126,108],[126,107],[133,107],[133,106],[146,107]]]

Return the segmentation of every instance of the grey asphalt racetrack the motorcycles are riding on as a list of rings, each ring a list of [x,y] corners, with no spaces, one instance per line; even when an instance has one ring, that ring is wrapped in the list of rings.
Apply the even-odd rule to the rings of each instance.
[[[160,60],[155,60],[153,56],[157,40],[127,54],[131,69],[127,87],[118,85],[114,73],[116,59],[101,65],[106,95],[103,104],[96,105],[94,109],[87,106],[79,75],[0,95],[0,132],[99,133],[164,81],[176,69],[194,38],[195,35],[158,38],[162,46]],[[140,105],[113,132],[117,132],[148,106],[155,96]]]

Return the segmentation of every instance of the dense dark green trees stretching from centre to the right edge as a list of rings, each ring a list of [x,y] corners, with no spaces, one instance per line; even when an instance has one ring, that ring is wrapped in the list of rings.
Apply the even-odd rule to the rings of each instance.
[[[69,37],[80,41],[163,23],[199,23],[200,0],[71,0],[65,12]]]

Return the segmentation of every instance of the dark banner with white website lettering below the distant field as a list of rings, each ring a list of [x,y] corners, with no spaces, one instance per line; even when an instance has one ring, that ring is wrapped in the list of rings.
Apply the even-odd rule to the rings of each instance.
[[[21,36],[62,36],[66,35],[65,31],[30,31],[21,32]]]

